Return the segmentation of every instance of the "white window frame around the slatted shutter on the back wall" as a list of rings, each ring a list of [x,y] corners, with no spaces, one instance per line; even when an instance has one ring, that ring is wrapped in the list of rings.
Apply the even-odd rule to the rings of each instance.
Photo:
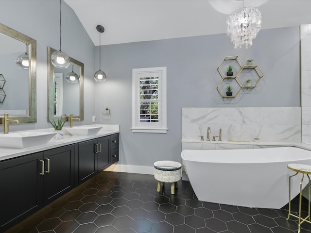
[[[155,74],[156,73],[156,74]],[[158,80],[158,120],[159,122],[140,122],[140,78],[157,75]],[[166,67],[135,68],[132,74],[132,133],[167,133],[166,110]]]

